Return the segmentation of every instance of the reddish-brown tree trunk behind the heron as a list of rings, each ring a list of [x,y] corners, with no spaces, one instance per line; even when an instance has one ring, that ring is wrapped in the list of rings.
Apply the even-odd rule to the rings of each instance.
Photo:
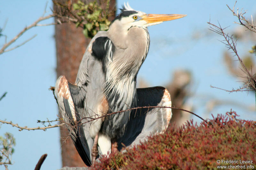
[[[67,3],[71,6],[74,1],[58,0],[58,2]],[[59,8],[54,5],[54,11],[60,10]],[[115,0],[110,1],[109,9],[115,9]],[[115,10],[112,12],[112,18],[110,19],[113,19],[114,16]],[[91,41],[91,39],[85,38],[82,31],[82,28],[76,28],[73,23],[62,23],[55,26],[57,77],[65,75],[71,83],[75,83],[80,62],[87,45]],[[67,139],[67,136],[68,130],[66,127],[60,127],[62,166],[86,166],[76,151],[72,140]]]

